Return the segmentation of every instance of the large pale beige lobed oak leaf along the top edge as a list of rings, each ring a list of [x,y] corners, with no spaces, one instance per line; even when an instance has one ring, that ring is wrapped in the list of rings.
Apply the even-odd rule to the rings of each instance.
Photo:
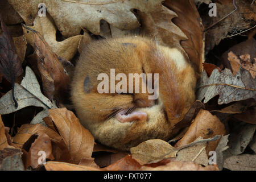
[[[132,9],[142,12],[158,10],[163,0],[130,0],[130,1],[48,1],[48,0],[9,0],[9,3],[24,19],[31,24],[38,13],[39,3],[45,3],[47,11],[55,20],[56,26],[64,36],[79,35],[81,27],[93,34],[100,34],[100,20],[121,30],[131,30],[139,27]],[[24,8],[26,7],[26,9]],[[59,7],[56,9],[56,7]],[[120,8],[122,7],[122,8]]]

